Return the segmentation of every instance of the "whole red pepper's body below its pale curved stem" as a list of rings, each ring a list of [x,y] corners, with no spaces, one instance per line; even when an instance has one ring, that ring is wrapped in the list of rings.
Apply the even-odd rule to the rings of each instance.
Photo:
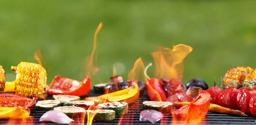
[[[160,80],[157,78],[148,79],[145,84],[148,97],[151,101],[165,101],[166,94],[163,91]]]

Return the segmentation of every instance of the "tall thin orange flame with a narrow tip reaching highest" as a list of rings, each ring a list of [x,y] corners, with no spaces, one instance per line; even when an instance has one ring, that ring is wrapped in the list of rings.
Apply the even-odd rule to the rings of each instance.
[[[103,24],[102,22],[99,23],[98,28],[95,31],[94,34],[94,42],[93,42],[93,51],[91,53],[90,56],[87,56],[86,58],[84,58],[84,61],[81,65],[81,73],[80,75],[82,75],[82,67],[85,66],[85,75],[89,76],[90,75],[96,75],[96,73],[99,71],[99,67],[96,66],[97,63],[97,34],[99,33],[100,29],[102,28]],[[90,60],[90,61],[88,61]],[[80,76],[81,78],[82,76]]]

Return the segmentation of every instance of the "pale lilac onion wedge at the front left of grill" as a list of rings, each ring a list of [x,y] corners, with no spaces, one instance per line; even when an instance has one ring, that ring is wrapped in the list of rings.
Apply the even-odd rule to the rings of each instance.
[[[49,122],[55,122],[58,124],[69,124],[74,120],[70,119],[70,117],[68,117],[66,114],[64,114],[61,111],[51,110],[43,114],[42,117],[39,119],[39,121],[49,121]]]

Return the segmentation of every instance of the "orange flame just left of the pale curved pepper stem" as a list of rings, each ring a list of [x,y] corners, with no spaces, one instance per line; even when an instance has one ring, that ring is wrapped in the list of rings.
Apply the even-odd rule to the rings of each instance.
[[[147,78],[143,74],[144,69],[145,69],[145,67],[144,67],[143,61],[140,57],[135,61],[133,69],[131,69],[130,72],[128,73],[128,79],[129,80],[139,80],[140,78],[142,78],[142,80],[144,82],[146,82]]]

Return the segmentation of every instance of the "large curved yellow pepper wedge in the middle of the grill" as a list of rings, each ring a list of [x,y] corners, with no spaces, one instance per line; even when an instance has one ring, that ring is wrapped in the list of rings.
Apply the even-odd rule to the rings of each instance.
[[[131,104],[139,98],[139,95],[139,86],[136,83],[133,83],[133,85],[127,89],[109,94],[103,94],[98,97],[86,97],[84,100],[95,101],[96,103],[125,102]]]

